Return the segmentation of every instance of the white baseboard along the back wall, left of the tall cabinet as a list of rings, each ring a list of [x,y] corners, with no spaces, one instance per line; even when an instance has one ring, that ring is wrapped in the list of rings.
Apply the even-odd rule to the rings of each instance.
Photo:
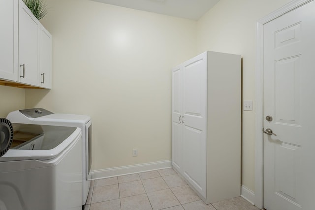
[[[98,179],[103,179],[103,178],[108,178],[108,177],[135,174],[139,172],[153,171],[153,170],[171,168],[171,167],[172,167],[172,160],[167,160],[167,161],[159,161],[159,162],[153,162],[153,163],[144,163],[144,164],[131,165],[131,166],[122,166],[122,167],[94,170],[90,172],[90,175],[91,175],[92,180],[98,180]]]

